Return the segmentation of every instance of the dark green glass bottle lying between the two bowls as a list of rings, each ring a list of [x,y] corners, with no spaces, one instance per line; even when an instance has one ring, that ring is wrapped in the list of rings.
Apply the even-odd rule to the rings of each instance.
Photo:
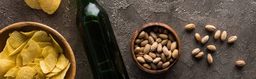
[[[76,0],[76,24],[94,79],[129,79],[108,14],[96,0]]]

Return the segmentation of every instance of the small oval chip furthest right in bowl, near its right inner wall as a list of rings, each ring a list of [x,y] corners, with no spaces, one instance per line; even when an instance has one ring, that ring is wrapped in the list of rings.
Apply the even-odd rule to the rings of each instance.
[[[63,70],[69,63],[69,60],[64,56],[64,54],[59,54],[56,67]]]

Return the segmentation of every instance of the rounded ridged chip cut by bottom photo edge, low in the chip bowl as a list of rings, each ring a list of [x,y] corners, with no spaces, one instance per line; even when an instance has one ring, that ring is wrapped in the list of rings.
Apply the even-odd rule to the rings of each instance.
[[[16,75],[16,79],[32,79],[33,77],[33,69],[28,66],[20,68]]]

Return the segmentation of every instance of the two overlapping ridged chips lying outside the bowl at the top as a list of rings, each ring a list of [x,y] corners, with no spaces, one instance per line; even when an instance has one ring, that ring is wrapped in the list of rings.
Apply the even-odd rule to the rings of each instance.
[[[61,3],[61,0],[25,0],[26,4],[34,9],[43,9],[47,14],[54,13]]]

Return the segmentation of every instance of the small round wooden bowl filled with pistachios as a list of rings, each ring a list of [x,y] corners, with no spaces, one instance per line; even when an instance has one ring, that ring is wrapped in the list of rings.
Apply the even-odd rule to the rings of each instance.
[[[180,58],[180,38],[163,23],[147,23],[135,31],[130,44],[136,65],[148,73],[163,73]]]

